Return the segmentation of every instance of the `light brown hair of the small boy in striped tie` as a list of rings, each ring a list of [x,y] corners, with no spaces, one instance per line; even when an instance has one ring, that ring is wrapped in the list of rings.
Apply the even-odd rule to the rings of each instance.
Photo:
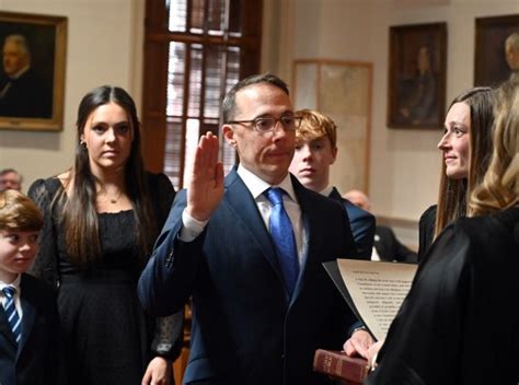
[[[39,231],[44,224],[37,206],[18,190],[0,191],[0,230]]]

